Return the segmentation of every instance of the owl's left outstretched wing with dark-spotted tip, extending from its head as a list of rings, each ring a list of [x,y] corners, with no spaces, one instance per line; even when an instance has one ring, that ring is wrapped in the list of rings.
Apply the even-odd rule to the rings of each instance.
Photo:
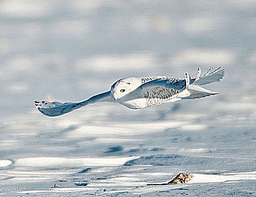
[[[57,117],[59,115],[67,114],[70,111],[80,109],[85,105],[93,104],[95,102],[113,101],[111,98],[111,91],[100,93],[90,97],[82,102],[48,102],[48,101],[34,101],[38,111],[48,117]]]

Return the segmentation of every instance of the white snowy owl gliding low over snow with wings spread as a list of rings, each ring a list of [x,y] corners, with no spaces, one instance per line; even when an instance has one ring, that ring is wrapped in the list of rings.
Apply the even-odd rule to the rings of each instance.
[[[82,102],[34,101],[34,103],[43,115],[57,117],[95,102],[117,102],[130,109],[142,109],[182,99],[202,98],[216,95],[218,92],[212,92],[200,86],[218,82],[225,74],[224,69],[220,67],[214,71],[211,70],[212,68],[201,76],[202,71],[198,68],[196,78],[191,78],[188,73],[185,73],[185,78],[127,77],[117,80],[110,91],[92,96]]]

